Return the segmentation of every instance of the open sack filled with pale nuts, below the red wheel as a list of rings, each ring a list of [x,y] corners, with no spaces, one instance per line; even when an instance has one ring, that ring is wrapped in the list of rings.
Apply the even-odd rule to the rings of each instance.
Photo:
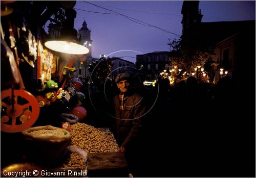
[[[25,154],[30,162],[50,167],[70,144],[70,133],[51,125],[36,126],[22,132]]]

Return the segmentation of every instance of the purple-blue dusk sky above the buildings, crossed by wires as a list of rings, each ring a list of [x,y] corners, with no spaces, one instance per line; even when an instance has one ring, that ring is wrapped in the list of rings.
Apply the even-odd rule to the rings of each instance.
[[[99,55],[104,54],[136,62],[136,55],[168,51],[168,38],[179,38],[172,33],[182,33],[182,3],[183,1],[77,1],[74,7],[77,12],[74,28],[80,29],[83,20],[86,20],[91,29],[93,57],[99,58]],[[203,22],[255,20],[255,1],[200,1],[199,9],[204,15]],[[119,52],[121,50],[134,52]]]

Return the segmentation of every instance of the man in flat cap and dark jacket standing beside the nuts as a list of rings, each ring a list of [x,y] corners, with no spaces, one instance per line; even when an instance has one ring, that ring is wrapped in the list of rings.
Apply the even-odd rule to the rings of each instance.
[[[143,98],[132,92],[130,74],[120,73],[115,82],[120,93],[114,97],[115,104],[115,137],[121,152],[124,153],[130,173],[136,164],[138,141],[141,132],[141,117],[145,113]],[[134,174],[134,173],[133,173]]]

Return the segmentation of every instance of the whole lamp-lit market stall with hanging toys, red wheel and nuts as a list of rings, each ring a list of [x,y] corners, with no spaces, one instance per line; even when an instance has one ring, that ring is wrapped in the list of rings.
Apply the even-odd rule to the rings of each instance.
[[[1,176],[127,175],[111,130],[84,123],[86,83],[74,64],[89,50],[77,42],[74,5],[1,1]]]

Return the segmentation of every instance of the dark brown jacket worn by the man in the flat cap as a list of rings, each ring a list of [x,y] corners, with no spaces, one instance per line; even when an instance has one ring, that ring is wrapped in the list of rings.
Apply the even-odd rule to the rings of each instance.
[[[124,99],[124,110],[120,113],[119,95],[114,97],[116,113],[116,139],[120,146],[127,148],[136,140],[141,130],[141,116],[145,112],[143,98],[135,93]]]

